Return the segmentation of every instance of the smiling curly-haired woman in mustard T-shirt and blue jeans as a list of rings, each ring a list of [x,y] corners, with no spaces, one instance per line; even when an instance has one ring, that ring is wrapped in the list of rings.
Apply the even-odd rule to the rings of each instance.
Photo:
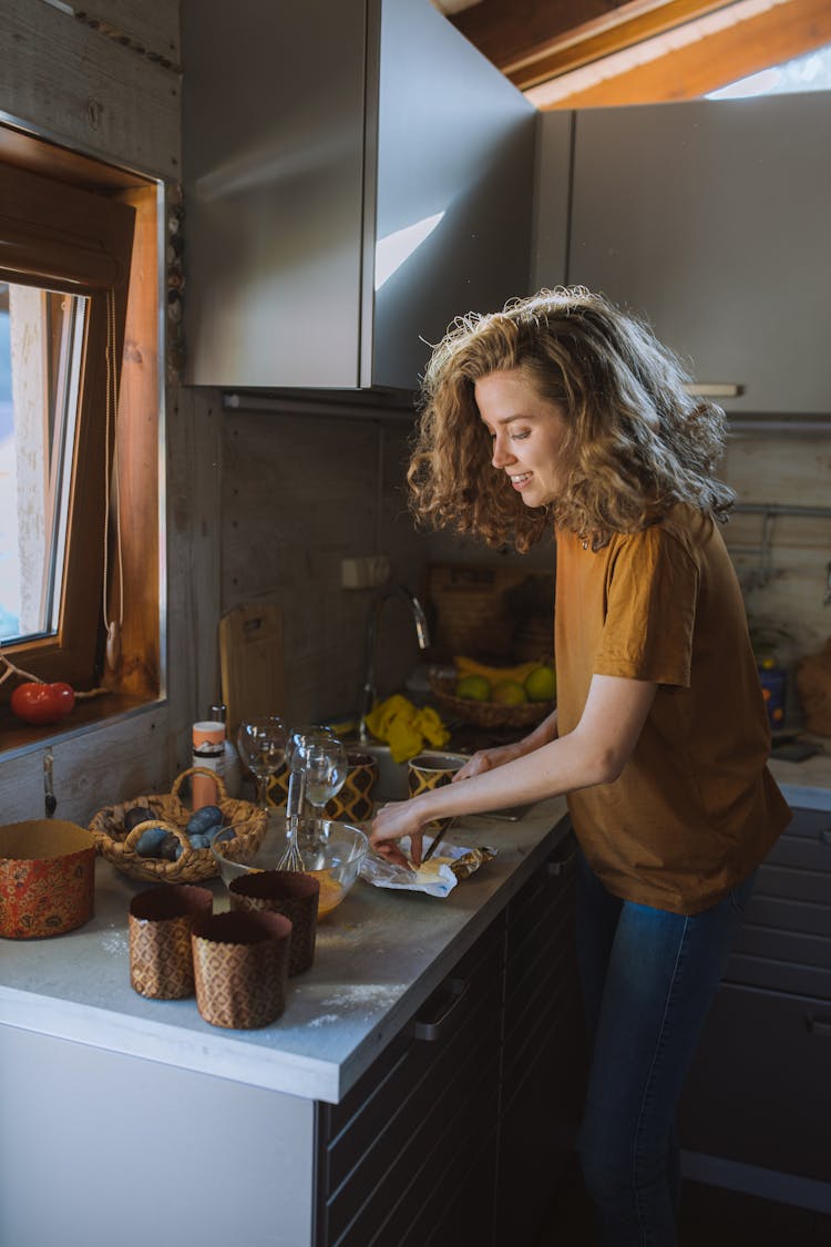
[[[579,1150],[601,1240],[677,1242],[681,1085],[755,868],[790,819],[713,475],[724,414],[647,328],[582,288],[456,322],[426,372],[421,522],[557,541],[557,711],[371,840],[566,793],[592,1067]]]

